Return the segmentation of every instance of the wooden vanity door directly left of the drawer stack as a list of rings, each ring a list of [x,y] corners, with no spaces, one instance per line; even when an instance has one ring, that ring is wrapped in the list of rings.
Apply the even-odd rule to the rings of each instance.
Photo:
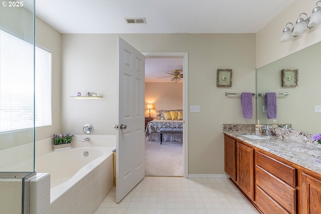
[[[240,142],[236,143],[237,183],[254,200],[254,150]]]

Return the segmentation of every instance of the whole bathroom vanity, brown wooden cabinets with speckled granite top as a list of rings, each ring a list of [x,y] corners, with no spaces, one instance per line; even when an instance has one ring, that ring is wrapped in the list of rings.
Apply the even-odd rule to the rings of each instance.
[[[225,171],[261,213],[321,213],[321,145],[223,132]]]

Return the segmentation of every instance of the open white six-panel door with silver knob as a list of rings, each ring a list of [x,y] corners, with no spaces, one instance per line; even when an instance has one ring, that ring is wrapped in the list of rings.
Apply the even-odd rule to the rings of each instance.
[[[145,176],[145,56],[117,37],[116,202]]]

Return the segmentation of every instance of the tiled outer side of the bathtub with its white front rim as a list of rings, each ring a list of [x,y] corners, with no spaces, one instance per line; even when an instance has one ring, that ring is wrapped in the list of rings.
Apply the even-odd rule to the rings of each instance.
[[[51,188],[51,213],[93,213],[113,183],[111,153],[99,164],[90,162],[70,180]]]

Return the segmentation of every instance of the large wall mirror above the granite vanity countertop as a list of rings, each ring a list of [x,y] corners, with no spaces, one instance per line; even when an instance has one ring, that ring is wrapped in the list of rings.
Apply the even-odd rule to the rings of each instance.
[[[261,124],[277,120],[296,130],[321,133],[320,50],[321,42],[257,69],[256,92],[261,94],[257,96],[257,119]],[[297,87],[282,87],[283,69],[298,69]],[[267,119],[263,110],[266,92],[276,93],[276,119]]]

